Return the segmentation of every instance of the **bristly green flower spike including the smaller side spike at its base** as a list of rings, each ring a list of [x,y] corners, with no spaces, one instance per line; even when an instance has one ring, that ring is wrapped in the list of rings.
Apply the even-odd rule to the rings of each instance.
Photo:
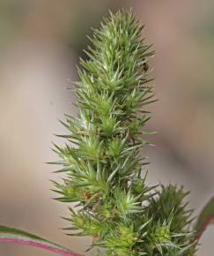
[[[153,99],[148,60],[151,45],[131,12],[118,11],[94,29],[80,60],[78,116],[66,116],[65,147],[55,146],[65,176],[58,198],[76,202],[67,220],[71,235],[92,236],[111,256],[191,256],[195,253],[185,193],[172,184],[145,184],[142,128]]]

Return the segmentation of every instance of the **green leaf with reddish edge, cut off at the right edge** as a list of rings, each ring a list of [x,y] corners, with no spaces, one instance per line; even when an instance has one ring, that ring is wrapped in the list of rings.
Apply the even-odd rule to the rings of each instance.
[[[196,222],[196,240],[202,237],[203,232],[210,225],[214,224],[214,197],[203,207]]]

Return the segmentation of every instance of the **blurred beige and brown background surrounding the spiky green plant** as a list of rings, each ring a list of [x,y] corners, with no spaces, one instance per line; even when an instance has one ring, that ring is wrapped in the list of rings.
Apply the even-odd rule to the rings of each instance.
[[[153,76],[159,102],[148,128],[156,147],[149,184],[184,184],[197,214],[214,195],[214,1],[0,0],[0,222],[31,230],[84,254],[89,240],[67,237],[64,204],[49,190],[58,119],[73,113],[68,79],[108,10],[133,8],[154,43]],[[198,256],[213,256],[214,228]],[[212,244],[211,244],[212,243]],[[51,256],[33,248],[0,245],[1,256]],[[85,254],[86,255],[86,254]],[[89,254],[88,254],[89,255]],[[125,256],[125,255],[124,255]]]

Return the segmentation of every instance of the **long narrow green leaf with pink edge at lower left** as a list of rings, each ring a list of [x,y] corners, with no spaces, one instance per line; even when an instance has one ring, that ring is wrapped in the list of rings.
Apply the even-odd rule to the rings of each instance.
[[[11,227],[0,226],[0,242],[17,245],[29,245],[64,256],[78,256],[74,252],[71,252],[70,249],[67,249],[61,245],[56,245],[55,243],[41,237]]]

